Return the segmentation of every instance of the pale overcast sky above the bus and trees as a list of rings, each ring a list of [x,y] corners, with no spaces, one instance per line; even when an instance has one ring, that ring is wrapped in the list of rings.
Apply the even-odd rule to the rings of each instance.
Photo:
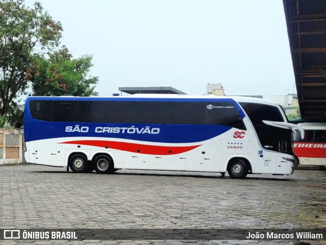
[[[33,6],[34,0],[25,0]],[[119,87],[296,93],[282,0],[39,0],[74,58],[93,55],[100,96]]]

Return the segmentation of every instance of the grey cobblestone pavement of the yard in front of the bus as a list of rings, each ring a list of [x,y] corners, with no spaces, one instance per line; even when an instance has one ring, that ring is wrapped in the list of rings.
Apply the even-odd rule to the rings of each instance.
[[[0,228],[326,228],[326,171],[214,173],[0,166]],[[320,244],[258,240],[0,240],[25,244]]]

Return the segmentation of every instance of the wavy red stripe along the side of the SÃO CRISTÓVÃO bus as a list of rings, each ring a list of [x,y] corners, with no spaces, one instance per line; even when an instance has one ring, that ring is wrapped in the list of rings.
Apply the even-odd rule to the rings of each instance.
[[[155,146],[154,145],[144,145],[144,144],[135,144],[119,141],[94,141],[94,140],[85,140],[85,141],[67,141],[61,142],[60,144],[73,144],[73,145],[87,145],[87,146],[96,146],[104,147],[107,149],[115,149],[122,151],[129,151],[141,154],[150,154],[150,155],[175,155],[179,153],[184,153],[186,151],[193,150],[201,145],[197,146]]]

